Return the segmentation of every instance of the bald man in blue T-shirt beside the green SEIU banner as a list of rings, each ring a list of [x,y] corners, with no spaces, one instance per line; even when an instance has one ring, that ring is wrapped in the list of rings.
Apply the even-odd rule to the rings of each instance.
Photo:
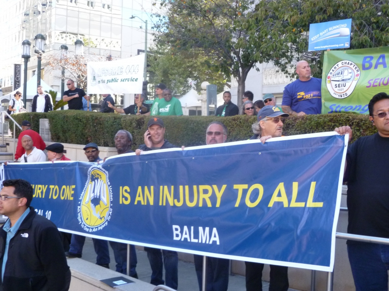
[[[321,79],[311,78],[311,67],[307,61],[296,65],[299,79],[283,90],[283,112],[290,115],[321,113]]]

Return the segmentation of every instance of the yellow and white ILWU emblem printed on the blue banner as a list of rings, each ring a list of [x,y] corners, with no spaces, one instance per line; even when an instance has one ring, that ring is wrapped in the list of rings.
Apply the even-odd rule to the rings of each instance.
[[[88,170],[88,181],[80,197],[78,221],[88,232],[102,229],[111,218],[112,187],[108,173],[101,165],[93,165]]]

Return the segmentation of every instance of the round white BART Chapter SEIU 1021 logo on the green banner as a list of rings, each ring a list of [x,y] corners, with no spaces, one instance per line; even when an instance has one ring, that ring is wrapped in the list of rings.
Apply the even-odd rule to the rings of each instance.
[[[337,62],[327,75],[327,89],[332,97],[347,98],[353,93],[360,75],[359,67],[353,62],[347,60]]]

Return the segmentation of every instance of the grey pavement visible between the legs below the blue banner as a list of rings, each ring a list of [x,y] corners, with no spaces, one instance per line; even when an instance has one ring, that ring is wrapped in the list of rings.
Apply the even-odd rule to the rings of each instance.
[[[108,244],[109,245],[109,244]],[[113,251],[109,246],[109,256],[111,258],[111,263],[109,268],[115,270],[115,259],[113,256]],[[83,249],[82,259],[85,259],[89,262],[96,263],[96,253],[94,252],[93,243],[91,238],[85,240],[85,245]],[[144,251],[137,249],[137,273],[139,279],[150,283],[151,268],[149,260],[147,259],[147,254]],[[263,282],[263,291],[268,291],[269,283]],[[228,291],[245,291],[245,277],[241,275],[230,275]],[[197,277],[195,273],[195,265],[193,263],[184,262],[178,260],[178,291],[199,291]],[[289,291],[297,291],[295,289],[290,289]]]

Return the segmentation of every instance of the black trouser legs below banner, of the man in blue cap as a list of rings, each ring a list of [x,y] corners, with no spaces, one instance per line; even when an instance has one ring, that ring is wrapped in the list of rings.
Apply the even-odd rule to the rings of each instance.
[[[264,264],[246,263],[246,291],[262,291]],[[269,291],[287,291],[289,288],[288,267],[270,265]]]

